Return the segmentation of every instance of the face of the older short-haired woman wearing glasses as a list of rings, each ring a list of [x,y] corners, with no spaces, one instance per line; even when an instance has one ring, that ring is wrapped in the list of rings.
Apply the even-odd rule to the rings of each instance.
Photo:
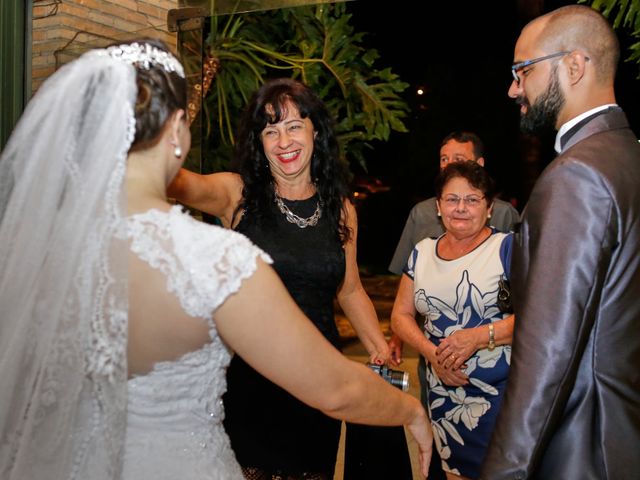
[[[489,205],[482,190],[472,187],[466,178],[454,177],[442,189],[438,211],[448,233],[456,238],[466,238],[485,226]]]

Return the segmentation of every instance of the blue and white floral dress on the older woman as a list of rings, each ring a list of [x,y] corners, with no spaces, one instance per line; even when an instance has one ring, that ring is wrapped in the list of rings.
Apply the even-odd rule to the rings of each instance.
[[[440,237],[442,238],[442,237]],[[493,230],[473,251],[455,260],[437,254],[440,239],[416,245],[404,270],[414,282],[416,310],[434,344],[462,328],[508,316],[496,305],[498,281],[509,278],[512,235]],[[429,416],[444,470],[476,478],[502,402],[511,346],[477,351],[466,362],[469,384],[445,385],[427,366]]]

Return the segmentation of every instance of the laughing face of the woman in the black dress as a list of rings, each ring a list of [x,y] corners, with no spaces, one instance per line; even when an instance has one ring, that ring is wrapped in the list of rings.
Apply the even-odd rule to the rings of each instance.
[[[311,179],[313,123],[309,118],[300,117],[293,103],[287,102],[284,107],[280,122],[268,124],[261,133],[271,173],[276,181],[300,176]]]

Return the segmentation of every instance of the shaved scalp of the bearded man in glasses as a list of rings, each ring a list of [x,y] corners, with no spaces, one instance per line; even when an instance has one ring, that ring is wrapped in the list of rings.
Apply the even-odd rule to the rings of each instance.
[[[593,63],[596,80],[613,83],[620,46],[609,22],[584,5],[558,8],[533,20],[527,27],[538,30],[538,46],[547,52],[583,50]]]

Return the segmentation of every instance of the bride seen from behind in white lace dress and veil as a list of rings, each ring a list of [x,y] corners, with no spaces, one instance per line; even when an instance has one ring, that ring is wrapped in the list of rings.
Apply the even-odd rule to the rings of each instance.
[[[167,201],[186,88],[159,42],[90,51],[2,152],[0,478],[242,479],[232,351],[328,415],[407,425],[426,474],[420,403],[335,350],[249,240]]]

